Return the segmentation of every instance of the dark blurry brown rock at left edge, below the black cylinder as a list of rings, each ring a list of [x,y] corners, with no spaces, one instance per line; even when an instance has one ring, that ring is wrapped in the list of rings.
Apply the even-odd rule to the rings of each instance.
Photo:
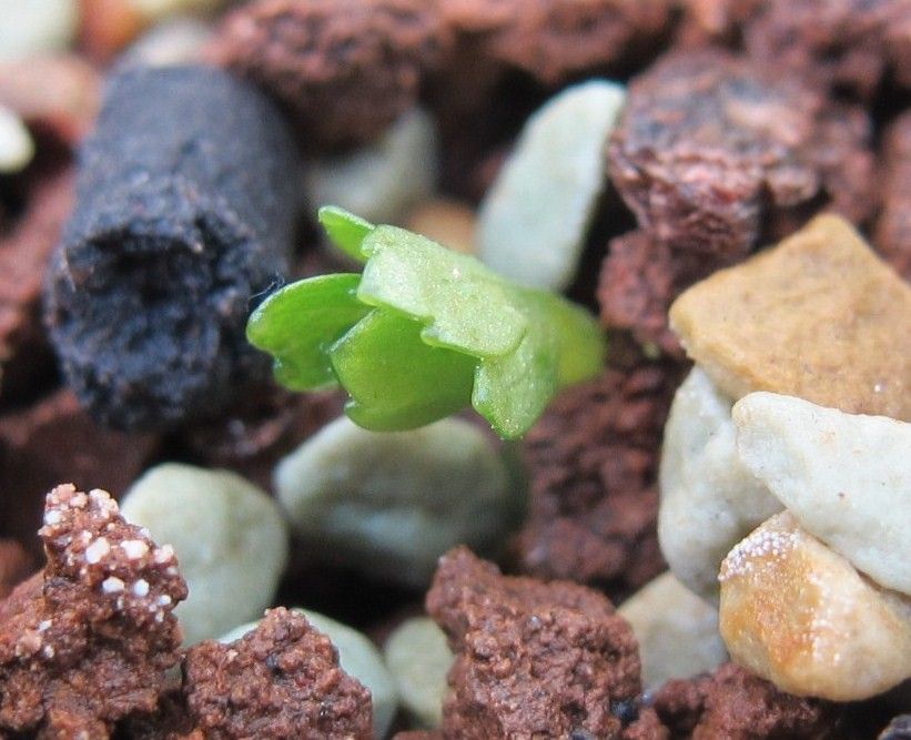
[[[19,539],[34,555],[43,495],[60,480],[103,481],[125,489],[154,454],[159,437],[104,429],[69,391],[0,415],[0,536]]]

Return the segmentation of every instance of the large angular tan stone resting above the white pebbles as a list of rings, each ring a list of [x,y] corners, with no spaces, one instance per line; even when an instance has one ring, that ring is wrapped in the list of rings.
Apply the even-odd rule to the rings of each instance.
[[[670,325],[733,399],[771,391],[911,420],[911,286],[839,216],[697,283]]]

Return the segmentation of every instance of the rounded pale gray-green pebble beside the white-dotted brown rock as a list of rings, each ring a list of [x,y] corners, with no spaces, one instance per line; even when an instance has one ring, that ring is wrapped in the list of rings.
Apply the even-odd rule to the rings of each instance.
[[[275,501],[252,483],[168,463],[130,487],[121,511],[178,555],[190,589],[174,611],[185,645],[255,619],[272,604],[287,561],[287,528]]]

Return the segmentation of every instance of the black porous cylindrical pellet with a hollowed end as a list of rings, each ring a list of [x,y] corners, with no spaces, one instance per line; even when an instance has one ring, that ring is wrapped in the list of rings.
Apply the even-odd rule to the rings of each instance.
[[[247,83],[205,67],[111,79],[45,285],[67,382],[100,422],[172,427],[267,371],[244,328],[286,270],[296,180],[281,113]]]

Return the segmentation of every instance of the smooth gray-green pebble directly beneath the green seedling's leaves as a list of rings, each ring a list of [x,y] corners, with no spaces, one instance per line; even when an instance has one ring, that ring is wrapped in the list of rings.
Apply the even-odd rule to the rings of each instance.
[[[458,418],[387,433],[341,417],[276,466],[275,489],[312,556],[416,588],[449,548],[499,545],[520,507],[493,440]]]

